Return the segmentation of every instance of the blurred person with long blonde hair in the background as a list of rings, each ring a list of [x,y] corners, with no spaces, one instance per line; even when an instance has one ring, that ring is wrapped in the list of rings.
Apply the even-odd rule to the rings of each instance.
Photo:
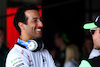
[[[66,58],[64,67],[78,67],[79,50],[75,44],[71,44],[66,48]]]

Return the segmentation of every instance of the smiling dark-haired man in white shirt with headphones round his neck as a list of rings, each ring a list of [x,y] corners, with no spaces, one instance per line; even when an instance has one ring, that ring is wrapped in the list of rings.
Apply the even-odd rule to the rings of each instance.
[[[6,67],[55,67],[52,56],[43,49],[43,23],[35,5],[18,8],[14,26],[20,37],[6,59]]]

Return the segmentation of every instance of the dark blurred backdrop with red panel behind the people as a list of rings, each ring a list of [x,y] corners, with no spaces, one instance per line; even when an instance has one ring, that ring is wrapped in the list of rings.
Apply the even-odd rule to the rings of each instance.
[[[100,14],[100,0],[0,0],[0,27],[4,28],[9,49],[19,37],[13,26],[14,15],[19,6],[27,4],[36,4],[40,8],[44,24],[43,41],[49,51],[56,47],[55,33],[64,32],[70,43],[76,44],[82,52],[84,39],[90,36],[82,25],[86,21],[94,21]]]

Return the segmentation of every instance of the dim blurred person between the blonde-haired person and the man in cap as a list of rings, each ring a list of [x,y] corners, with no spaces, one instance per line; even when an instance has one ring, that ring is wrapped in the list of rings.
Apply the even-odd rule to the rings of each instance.
[[[89,54],[92,51],[92,47],[93,47],[93,44],[92,44],[92,40],[90,39],[90,37],[85,37],[84,43],[83,43],[83,48],[82,48],[83,59],[87,59],[89,57]]]

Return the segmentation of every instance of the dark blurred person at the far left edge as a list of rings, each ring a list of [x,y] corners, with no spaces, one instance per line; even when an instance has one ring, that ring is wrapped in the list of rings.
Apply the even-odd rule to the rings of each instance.
[[[5,43],[5,32],[2,27],[0,27],[0,67],[4,67],[6,55],[9,52]]]

